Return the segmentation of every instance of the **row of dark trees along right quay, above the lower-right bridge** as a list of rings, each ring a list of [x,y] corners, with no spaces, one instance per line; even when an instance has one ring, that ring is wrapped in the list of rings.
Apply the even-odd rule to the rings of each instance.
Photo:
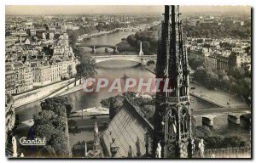
[[[194,66],[194,65],[193,65]],[[240,67],[235,67],[229,72],[225,70],[212,70],[210,66],[200,65],[194,73],[195,81],[201,82],[209,89],[222,88],[230,93],[235,93],[238,98],[243,98],[250,104],[251,73]]]

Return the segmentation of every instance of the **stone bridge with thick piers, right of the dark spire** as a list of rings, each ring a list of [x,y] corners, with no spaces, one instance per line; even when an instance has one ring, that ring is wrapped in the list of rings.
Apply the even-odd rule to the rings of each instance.
[[[228,115],[228,121],[231,124],[250,126],[250,118],[245,118],[243,115],[251,114],[249,108],[212,108],[204,110],[192,110],[192,115],[201,116],[202,125],[213,126],[213,120],[218,115]]]

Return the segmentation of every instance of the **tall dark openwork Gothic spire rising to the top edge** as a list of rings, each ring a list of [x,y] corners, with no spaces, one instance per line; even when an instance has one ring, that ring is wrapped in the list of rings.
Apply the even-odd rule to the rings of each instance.
[[[162,82],[155,99],[153,153],[161,158],[187,158],[192,152],[189,65],[178,8],[165,6],[157,53],[156,78]],[[167,81],[171,92],[163,89]]]

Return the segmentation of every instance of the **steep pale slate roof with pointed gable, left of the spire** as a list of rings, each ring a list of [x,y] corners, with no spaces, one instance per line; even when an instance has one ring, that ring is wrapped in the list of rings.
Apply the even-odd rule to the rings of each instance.
[[[135,106],[133,106],[127,99],[119,110],[119,112],[110,121],[108,129],[102,133],[102,149],[105,154],[111,156],[110,144],[114,138],[113,146],[119,147],[114,157],[127,157],[129,146],[131,145],[132,156],[137,156],[137,142],[140,144],[141,155],[146,154],[146,142],[148,145],[148,152],[151,151],[152,138],[149,133],[153,132],[153,126],[143,118]],[[148,134],[148,136],[146,136]],[[148,141],[146,140],[148,137]],[[139,141],[137,141],[139,139]]]

